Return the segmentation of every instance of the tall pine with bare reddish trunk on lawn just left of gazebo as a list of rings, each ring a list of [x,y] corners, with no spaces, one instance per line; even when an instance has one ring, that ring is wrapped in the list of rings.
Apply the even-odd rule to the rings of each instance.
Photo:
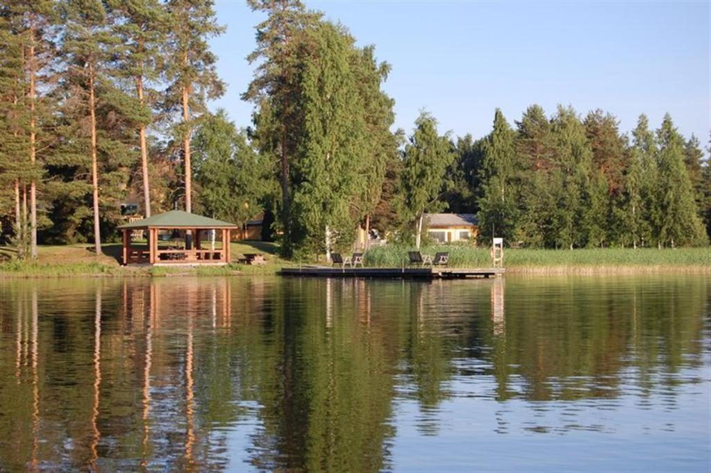
[[[95,252],[100,255],[102,221],[106,232],[113,230],[127,186],[128,166],[134,159],[124,144],[129,129],[122,115],[130,98],[116,86],[112,75],[120,40],[111,31],[105,5],[98,0],[67,0],[62,14],[62,53],[67,67],[60,82],[59,149],[48,165],[63,178],[53,186],[55,216],[64,213],[63,218],[73,223],[55,225],[55,232],[64,227],[65,238],[72,239],[75,231],[83,232],[87,212],[82,208],[80,181],[88,168],[92,187],[88,214],[93,220]]]

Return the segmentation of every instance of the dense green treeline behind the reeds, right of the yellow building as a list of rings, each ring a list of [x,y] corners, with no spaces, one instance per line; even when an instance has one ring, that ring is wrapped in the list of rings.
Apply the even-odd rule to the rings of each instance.
[[[545,248],[707,244],[710,176],[699,142],[669,115],[631,139],[600,110],[581,119],[529,107],[512,129],[497,110],[479,149],[482,238]],[[704,223],[707,227],[704,228]]]

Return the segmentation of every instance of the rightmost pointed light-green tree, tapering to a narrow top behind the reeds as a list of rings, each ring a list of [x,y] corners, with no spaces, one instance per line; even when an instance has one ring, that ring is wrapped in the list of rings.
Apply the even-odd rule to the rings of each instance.
[[[684,141],[668,114],[656,134],[659,147],[658,202],[663,208],[659,243],[672,247],[706,243],[693,187],[684,165]]]

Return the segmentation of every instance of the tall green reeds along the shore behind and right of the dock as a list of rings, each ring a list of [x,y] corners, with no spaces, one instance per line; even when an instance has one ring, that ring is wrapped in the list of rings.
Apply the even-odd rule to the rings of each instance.
[[[371,248],[365,255],[365,264],[375,267],[400,267],[407,265],[410,248],[385,246]],[[464,245],[433,246],[422,252],[434,255],[449,252],[451,267],[489,267],[488,248]],[[504,251],[507,272],[657,272],[664,270],[684,272],[710,272],[710,248],[584,248],[579,250],[510,250]]]

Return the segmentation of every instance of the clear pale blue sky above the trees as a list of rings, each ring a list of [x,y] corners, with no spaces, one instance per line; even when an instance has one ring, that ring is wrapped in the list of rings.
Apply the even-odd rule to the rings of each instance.
[[[385,83],[395,126],[408,132],[419,110],[440,131],[481,137],[496,107],[511,124],[528,105],[546,112],[602,108],[623,132],[640,113],[658,127],[669,112],[704,147],[711,129],[710,1],[306,1],[375,45],[392,65]],[[237,126],[252,105],[240,94],[252,78],[245,57],[263,19],[240,0],[215,0],[227,32],[212,40],[227,92],[213,103]]]

